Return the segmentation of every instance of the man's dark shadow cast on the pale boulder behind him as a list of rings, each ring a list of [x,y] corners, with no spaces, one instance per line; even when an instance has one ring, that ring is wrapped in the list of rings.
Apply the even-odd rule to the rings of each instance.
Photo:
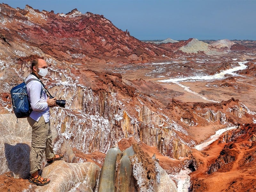
[[[8,168],[20,178],[28,179],[29,173],[29,153],[30,147],[25,143],[10,145],[4,143],[4,154]]]

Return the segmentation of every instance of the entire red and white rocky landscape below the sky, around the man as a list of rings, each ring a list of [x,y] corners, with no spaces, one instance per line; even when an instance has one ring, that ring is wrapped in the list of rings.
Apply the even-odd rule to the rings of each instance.
[[[228,52],[194,38],[156,45],[103,15],[40,12],[28,5],[0,4],[0,22],[1,190],[124,191],[130,185],[128,191],[177,191],[180,181],[170,177],[185,168],[193,171],[193,191],[255,188],[251,41],[232,41]],[[44,161],[43,176],[52,186],[43,188],[26,180],[31,130],[26,119],[16,123],[10,103],[11,88],[28,76],[35,58],[49,65],[43,79],[49,92],[66,100],[65,108],[51,109],[54,150],[65,158]],[[228,72],[234,68],[240,70]],[[211,78],[198,80],[205,76]],[[159,82],[166,79],[178,80]],[[236,129],[195,149],[227,127]],[[111,177],[104,168],[109,162]],[[216,188],[216,182],[223,184]]]

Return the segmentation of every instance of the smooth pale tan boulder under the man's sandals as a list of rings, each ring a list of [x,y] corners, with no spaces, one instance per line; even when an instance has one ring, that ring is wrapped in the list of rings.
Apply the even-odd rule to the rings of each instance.
[[[42,176],[50,178],[51,182],[45,186],[36,187],[36,192],[92,192],[100,174],[100,167],[95,163],[67,163],[55,161],[44,167]]]

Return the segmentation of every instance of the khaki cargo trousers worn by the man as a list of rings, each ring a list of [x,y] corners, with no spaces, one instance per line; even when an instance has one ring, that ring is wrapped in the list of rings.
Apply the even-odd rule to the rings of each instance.
[[[31,117],[28,117],[27,120],[32,127],[29,162],[30,174],[33,174],[37,170],[41,170],[44,152],[46,159],[51,159],[54,156],[52,148],[52,131],[50,121],[45,123],[43,116],[40,117],[38,122]]]

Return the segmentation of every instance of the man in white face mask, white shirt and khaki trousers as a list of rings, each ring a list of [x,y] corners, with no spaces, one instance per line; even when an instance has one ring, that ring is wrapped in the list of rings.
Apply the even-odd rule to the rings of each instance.
[[[32,73],[26,78],[40,79],[47,75],[47,64],[43,59],[33,60],[31,63]],[[32,140],[30,150],[30,174],[28,180],[36,185],[46,185],[50,179],[41,177],[38,173],[41,170],[42,160],[45,152],[47,163],[62,159],[63,154],[53,153],[52,148],[52,131],[50,128],[50,107],[55,107],[56,97],[50,99],[43,89],[40,81],[30,81],[27,85],[28,100],[33,111],[29,115],[28,123],[32,127]]]

